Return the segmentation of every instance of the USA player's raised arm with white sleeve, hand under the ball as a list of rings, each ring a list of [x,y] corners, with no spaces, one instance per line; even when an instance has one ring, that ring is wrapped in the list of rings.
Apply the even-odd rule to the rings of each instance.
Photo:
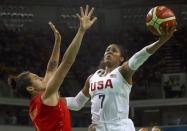
[[[142,50],[134,54],[127,62],[122,64],[119,70],[129,84],[132,84],[132,76],[135,71],[149,58],[149,56],[154,54],[161,46],[163,46],[173,36],[175,31],[175,28],[171,30],[168,28],[167,33],[160,36],[158,41],[144,47]]]

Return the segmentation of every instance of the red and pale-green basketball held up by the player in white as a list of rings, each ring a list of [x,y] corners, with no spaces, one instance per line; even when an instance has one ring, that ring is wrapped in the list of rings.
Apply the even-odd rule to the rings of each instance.
[[[174,28],[177,25],[175,14],[166,6],[152,8],[146,16],[148,29],[156,36],[166,32],[166,27]]]

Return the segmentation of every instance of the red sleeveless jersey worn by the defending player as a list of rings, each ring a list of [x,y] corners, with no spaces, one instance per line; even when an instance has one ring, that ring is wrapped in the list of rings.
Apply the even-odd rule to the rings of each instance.
[[[42,103],[41,94],[30,101],[29,115],[36,131],[72,131],[70,113],[63,100],[56,106]]]

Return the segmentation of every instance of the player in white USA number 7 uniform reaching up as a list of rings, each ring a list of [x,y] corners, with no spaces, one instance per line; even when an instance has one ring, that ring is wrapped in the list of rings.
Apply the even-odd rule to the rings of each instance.
[[[135,131],[132,120],[128,118],[132,76],[176,30],[167,28],[166,31],[158,41],[144,47],[128,61],[124,60],[118,45],[109,45],[104,53],[104,68],[87,78],[84,88],[76,97],[66,98],[71,110],[80,110],[91,98],[90,131]]]

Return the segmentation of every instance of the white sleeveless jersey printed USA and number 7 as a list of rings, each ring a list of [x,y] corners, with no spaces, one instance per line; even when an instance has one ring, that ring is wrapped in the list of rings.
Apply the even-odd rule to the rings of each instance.
[[[119,67],[106,76],[101,76],[102,72],[96,71],[89,81],[92,123],[113,123],[119,119],[128,119],[132,85],[123,78]]]

